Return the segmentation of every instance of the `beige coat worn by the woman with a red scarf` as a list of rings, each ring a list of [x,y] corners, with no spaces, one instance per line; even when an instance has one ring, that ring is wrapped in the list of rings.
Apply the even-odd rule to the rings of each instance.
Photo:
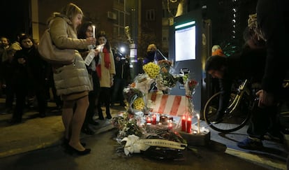
[[[111,87],[110,79],[113,78],[115,74],[114,57],[112,55],[112,51],[110,51],[110,69],[105,67],[104,53],[100,52],[99,55],[101,55],[101,78],[99,79],[99,82],[101,87]]]

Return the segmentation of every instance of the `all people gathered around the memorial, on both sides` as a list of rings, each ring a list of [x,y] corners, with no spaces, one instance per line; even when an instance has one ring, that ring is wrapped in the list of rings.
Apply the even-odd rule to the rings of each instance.
[[[245,38],[246,47],[242,52],[232,57],[217,53],[207,60],[206,71],[221,79],[221,88],[227,89],[220,103],[223,108],[228,104],[233,78],[260,78],[258,81],[261,86],[257,93],[260,108],[256,111],[258,121],[251,119],[249,138],[238,143],[241,148],[262,147],[262,137],[267,131],[264,122],[269,117],[269,108],[274,110],[281,97],[288,97],[288,93],[287,96],[281,93],[282,81],[288,71],[285,50],[288,46],[288,27],[285,24],[288,20],[287,4],[285,0],[259,0],[255,18],[257,27],[250,26],[249,31],[244,34],[244,37],[247,35],[249,38]],[[91,152],[89,148],[84,148],[85,143],[80,143],[80,132],[94,134],[89,126],[98,125],[93,118],[94,113],[98,113],[99,120],[110,120],[110,104],[119,102],[121,106],[125,105],[122,90],[130,79],[126,57],[113,53],[105,31],[94,34],[93,23],[82,23],[83,16],[78,6],[68,3],[59,13],[52,13],[47,22],[54,45],[61,49],[75,49],[73,64],[45,62],[34,39],[27,34],[20,34],[13,44],[6,37],[1,37],[0,41],[1,92],[6,94],[6,111],[13,113],[10,123],[22,122],[27,98],[31,96],[36,97],[39,116],[44,118],[47,109],[46,94],[50,94],[49,89],[52,88],[54,100],[62,109],[64,146],[77,155]],[[144,64],[157,59],[156,54],[156,45],[149,45]],[[84,62],[89,55],[94,56],[92,61]],[[262,76],[252,73],[260,73]],[[14,99],[16,101],[13,109]],[[106,118],[101,108],[103,105]],[[223,115],[224,110],[220,108],[215,123],[221,122]]]

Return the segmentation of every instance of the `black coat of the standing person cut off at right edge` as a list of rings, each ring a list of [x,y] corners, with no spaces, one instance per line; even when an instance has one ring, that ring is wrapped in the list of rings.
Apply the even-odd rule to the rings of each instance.
[[[266,67],[262,89],[275,95],[283,94],[283,79],[289,75],[288,0],[259,0],[256,6],[257,22],[266,38]],[[287,73],[287,74],[286,74]]]

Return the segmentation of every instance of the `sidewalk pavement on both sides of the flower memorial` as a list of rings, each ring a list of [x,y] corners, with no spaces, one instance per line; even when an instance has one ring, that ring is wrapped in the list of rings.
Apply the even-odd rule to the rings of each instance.
[[[49,104],[49,108],[50,111],[45,118],[38,118],[36,111],[29,111],[23,115],[23,123],[12,126],[7,123],[11,114],[0,115],[0,157],[61,145],[64,134],[61,112],[53,109],[53,103]],[[124,108],[120,106],[111,108],[112,116],[116,116],[119,111],[123,110]],[[98,122],[100,125],[94,126],[96,134],[114,128],[108,122]],[[207,127],[205,121],[201,121],[200,125],[210,130],[209,145],[213,145],[216,150],[262,164],[269,169],[286,169],[288,152],[285,144],[263,141],[264,150],[244,150],[237,147],[237,142],[246,139],[246,127],[230,134],[221,134]],[[87,136],[89,135],[81,134],[82,139]],[[285,142],[288,142],[287,136],[286,139]]]

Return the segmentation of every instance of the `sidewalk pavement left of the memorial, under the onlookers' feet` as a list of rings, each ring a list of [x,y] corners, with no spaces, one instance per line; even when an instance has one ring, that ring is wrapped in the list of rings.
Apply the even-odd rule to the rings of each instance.
[[[3,99],[0,99],[1,103],[3,103]],[[8,123],[11,114],[0,114],[0,157],[61,145],[64,125],[61,120],[61,111],[54,108],[54,103],[48,104],[48,113],[45,118],[38,118],[36,111],[28,111],[23,115],[23,122],[16,125],[9,125]],[[3,109],[0,109],[0,113],[1,110]],[[110,111],[112,116],[119,112],[113,108]],[[113,128],[108,121],[99,120],[98,122],[100,125],[94,126],[96,134]],[[80,137],[83,139],[87,136],[89,135],[81,134]]]

